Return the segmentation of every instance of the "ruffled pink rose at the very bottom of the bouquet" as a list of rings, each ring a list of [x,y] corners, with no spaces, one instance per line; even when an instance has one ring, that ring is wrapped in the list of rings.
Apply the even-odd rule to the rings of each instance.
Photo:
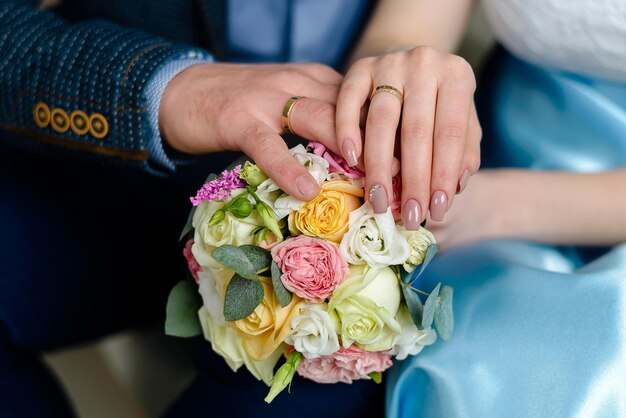
[[[391,356],[375,351],[365,351],[356,345],[340,347],[330,356],[303,358],[298,374],[317,383],[352,383],[353,380],[370,379],[368,374],[383,372],[393,362]]]

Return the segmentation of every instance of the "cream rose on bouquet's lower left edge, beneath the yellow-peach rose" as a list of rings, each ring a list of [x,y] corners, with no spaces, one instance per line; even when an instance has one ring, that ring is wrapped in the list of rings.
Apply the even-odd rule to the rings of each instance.
[[[243,349],[243,338],[237,331],[229,325],[217,325],[204,307],[200,308],[198,316],[204,338],[211,342],[213,351],[222,356],[233,371],[245,365],[254,377],[268,386],[271,385],[274,367],[283,355],[284,346],[278,347],[265,360],[252,360]]]

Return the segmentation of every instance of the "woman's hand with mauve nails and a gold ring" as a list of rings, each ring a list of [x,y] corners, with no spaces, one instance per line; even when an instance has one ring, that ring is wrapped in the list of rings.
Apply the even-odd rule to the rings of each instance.
[[[371,97],[363,138],[361,111],[378,86],[400,94],[387,88]],[[386,211],[392,201],[390,167],[394,155],[401,155],[407,228],[419,228],[429,210],[433,220],[444,219],[455,193],[480,165],[475,88],[464,59],[428,47],[354,63],[337,98],[337,140],[349,164],[364,160],[375,212]]]

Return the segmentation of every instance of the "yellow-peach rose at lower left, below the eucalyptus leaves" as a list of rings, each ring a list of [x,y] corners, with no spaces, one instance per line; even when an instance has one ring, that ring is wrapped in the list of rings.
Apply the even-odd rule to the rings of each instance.
[[[264,360],[272,355],[291,332],[291,320],[298,315],[302,299],[293,295],[291,303],[280,306],[271,279],[260,278],[265,295],[247,318],[232,323],[243,339],[243,347],[253,360]]]

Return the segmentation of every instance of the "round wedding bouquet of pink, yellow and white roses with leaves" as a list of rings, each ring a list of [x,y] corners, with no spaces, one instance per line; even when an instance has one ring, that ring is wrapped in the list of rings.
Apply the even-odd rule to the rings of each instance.
[[[254,163],[211,175],[183,231],[192,280],[171,292],[166,332],[203,334],[236,371],[270,386],[295,373],[319,383],[379,383],[392,359],[452,335],[452,288],[416,287],[438,250],[423,225],[408,231],[394,204],[375,214],[364,174],[323,145],[291,149],[320,185],[287,195]],[[284,363],[274,372],[277,364]]]

